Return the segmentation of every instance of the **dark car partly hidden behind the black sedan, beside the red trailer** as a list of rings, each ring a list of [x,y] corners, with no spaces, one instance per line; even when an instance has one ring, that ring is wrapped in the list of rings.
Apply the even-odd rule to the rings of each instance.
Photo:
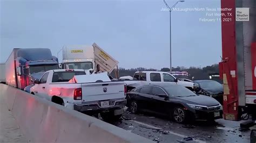
[[[194,90],[197,94],[206,95],[215,98],[223,105],[223,85],[213,80],[194,81]]]

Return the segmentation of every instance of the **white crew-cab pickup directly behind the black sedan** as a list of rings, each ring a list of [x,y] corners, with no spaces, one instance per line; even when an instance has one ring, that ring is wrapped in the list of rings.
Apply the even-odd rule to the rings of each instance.
[[[190,90],[194,90],[193,82],[180,81],[170,73],[164,71],[136,71],[133,75],[133,80],[124,80],[127,84],[127,90],[142,87],[149,84],[179,84]]]

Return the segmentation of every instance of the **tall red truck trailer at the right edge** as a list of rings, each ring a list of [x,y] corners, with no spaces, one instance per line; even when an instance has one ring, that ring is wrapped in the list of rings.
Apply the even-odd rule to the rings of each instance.
[[[221,12],[222,60],[219,63],[219,76],[224,85],[223,112],[227,120],[241,120],[248,118],[248,115],[256,119],[255,7],[254,0],[221,1],[222,9],[231,10]],[[237,8],[247,8],[250,20],[237,21]],[[225,19],[232,20],[225,22]]]

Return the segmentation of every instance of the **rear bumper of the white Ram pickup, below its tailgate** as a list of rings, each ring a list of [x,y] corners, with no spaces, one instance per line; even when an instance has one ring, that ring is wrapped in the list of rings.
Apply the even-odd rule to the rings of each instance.
[[[108,105],[103,105],[102,102],[109,102]],[[107,112],[109,110],[123,110],[126,104],[126,99],[110,99],[104,101],[92,101],[74,104],[74,110],[79,112]],[[119,111],[118,111],[119,112]]]

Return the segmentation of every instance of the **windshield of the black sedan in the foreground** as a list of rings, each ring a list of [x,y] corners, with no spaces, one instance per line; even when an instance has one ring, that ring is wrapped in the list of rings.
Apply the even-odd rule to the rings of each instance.
[[[170,96],[176,96],[176,97],[196,96],[196,94],[193,91],[181,85],[165,85],[164,89],[169,93]]]

